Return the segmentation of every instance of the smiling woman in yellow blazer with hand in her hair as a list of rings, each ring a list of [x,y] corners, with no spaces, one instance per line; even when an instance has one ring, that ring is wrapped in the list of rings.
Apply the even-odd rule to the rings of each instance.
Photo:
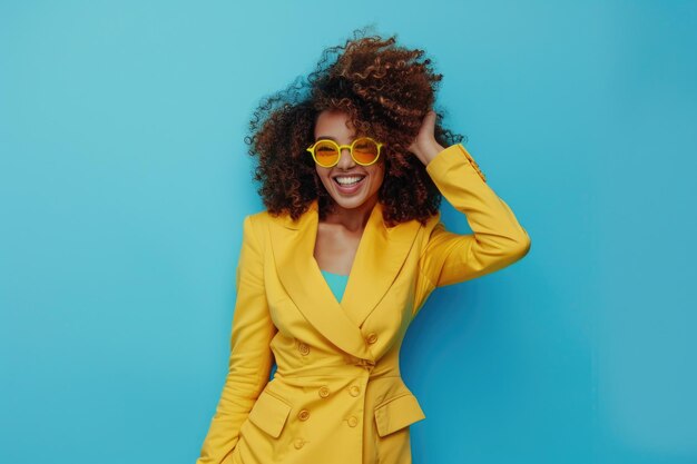
[[[406,328],[433,289],[528,253],[438,124],[442,76],[422,57],[354,36],[255,112],[266,210],[244,219],[229,373],[198,464],[411,463],[425,415],[400,377]],[[442,196],[473,234],[445,229]]]

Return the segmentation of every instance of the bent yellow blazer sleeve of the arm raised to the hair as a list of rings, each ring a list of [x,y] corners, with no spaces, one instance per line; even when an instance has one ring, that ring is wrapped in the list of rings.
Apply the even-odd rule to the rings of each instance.
[[[419,259],[420,274],[431,289],[493,273],[526,256],[528,233],[462,144],[439,152],[426,172],[443,197],[465,215],[473,231],[449,231],[439,215]]]

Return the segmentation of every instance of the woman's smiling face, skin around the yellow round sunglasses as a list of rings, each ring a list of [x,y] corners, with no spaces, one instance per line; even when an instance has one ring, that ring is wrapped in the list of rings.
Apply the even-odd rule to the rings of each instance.
[[[341,111],[324,110],[315,124],[315,140],[330,138],[338,145],[351,145],[356,135],[353,127],[347,126],[348,115]],[[380,141],[380,140],[379,140]],[[315,164],[317,175],[324,188],[342,208],[353,209],[361,205],[374,204],[384,178],[384,147],[380,158],[370,166],[361,166],[353,160],[348,148],[341,150],[341,158],[335,166],[324,168]],[[355,185],[342,186],[336,178],[361,178]]]

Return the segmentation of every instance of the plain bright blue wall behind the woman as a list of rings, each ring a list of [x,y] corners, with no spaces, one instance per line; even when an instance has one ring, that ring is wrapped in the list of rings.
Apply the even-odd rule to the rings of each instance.
[[[248,118],[369,23],[532,239],[410,328],[414,461],[697,463],[697,3],[404,0],[0,3],[1,462],[196,460]]]

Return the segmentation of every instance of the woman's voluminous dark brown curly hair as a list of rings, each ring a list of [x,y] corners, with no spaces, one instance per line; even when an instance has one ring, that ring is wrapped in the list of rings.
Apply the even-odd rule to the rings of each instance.
[[[442,195],[408,147],[432,109],[442,75],[423,50],[395,43],[396,36],[355,30],[343,46],[325,49],[306,78],[262,99],[245,144],[251,156],[258,156],[254,180],[268,213],[297,219],[314,199],[321,219],[332,210],[334,201],[305,150],[314,141],[317,116],[327,109],[346,112],[356,132],[385,144],[377,198],[389,226],[412,219],[425,224],[438,213]],[[443,112],[435,113],[436,141],[445,147],[461,142],[463,136],[442,127]]]

